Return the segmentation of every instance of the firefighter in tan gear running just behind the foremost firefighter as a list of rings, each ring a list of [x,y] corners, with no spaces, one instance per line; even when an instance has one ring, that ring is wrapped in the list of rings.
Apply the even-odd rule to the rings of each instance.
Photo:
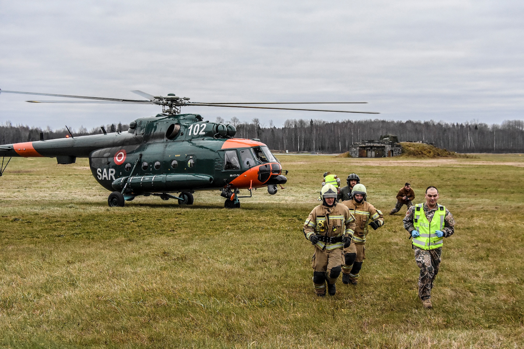
[[[367,191],[364,184],[356,184],[352,191],[353,199],[342,203],[355,217],[353,244],[344,248],[345,263],[342,266],[342,282],[357,285],[362,263],[366,259],[365,247],[368,224],[374,230],[384,225],[384,215],[375,206],[366,201]]]

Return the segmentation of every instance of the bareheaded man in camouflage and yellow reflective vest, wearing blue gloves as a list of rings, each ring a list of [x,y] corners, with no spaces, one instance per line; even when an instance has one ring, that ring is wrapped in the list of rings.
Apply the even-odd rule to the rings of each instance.
[[[431,289],[442,255],[444,237],[454,233],[455,220],[444,206],[436,201],[439,191],[430,186],[425,192],[426,202],[411,206],[402,220],[413,238],[415,261],[420,268],[419,298],[425,308],[432,308]]]

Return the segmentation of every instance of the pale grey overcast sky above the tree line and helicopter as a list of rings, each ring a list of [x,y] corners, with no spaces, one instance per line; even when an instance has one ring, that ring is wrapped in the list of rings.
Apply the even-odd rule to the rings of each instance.
[[[524,119],[522,1],[5,1],[2,90],[195,102],[366,101],[380,115],[185,107],[204,120]],[[0,123],[91,128],[158,106],[34,104]],[[318,107],[321,107],[318,105]]]

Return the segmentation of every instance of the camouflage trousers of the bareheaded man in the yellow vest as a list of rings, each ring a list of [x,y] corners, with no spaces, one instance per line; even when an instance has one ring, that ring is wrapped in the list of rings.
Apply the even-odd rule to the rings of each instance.
[[[419,298],[424,300],[431,297],[431,289],[439,266],[442,255],[442,247],[435,249],[422,249],[414,246],[415,261],[420,268],[419,276]]]

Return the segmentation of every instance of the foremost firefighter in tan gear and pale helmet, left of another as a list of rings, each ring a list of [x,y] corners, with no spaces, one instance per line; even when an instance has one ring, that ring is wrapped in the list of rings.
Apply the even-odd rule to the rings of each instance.
[[[334,296],[335,282],[344,264],[344,245],[351,243],[355,217],[345,205],[336,203],[336,188],[326,184],[321,191],[322,204],[316,206],[304,223],[304,236],[314,245],[313,285],[317,296]]]

